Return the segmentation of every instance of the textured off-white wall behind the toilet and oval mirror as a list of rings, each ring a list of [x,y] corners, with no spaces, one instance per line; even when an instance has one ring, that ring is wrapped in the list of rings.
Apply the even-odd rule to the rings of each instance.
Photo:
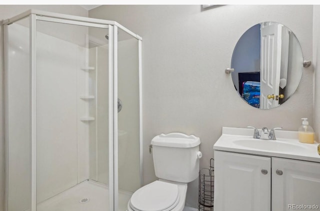
[[[271,110],[248,106],[234,90],[230,75],[233,48],[242,33],[263,21],[280,22],[312,58],[312,5],[224,5],[201,11],[200,5],[110,5],[89,11],[142,36],[143,179],[156,179],[151,138],[180,131],[201,139],[208,167],[222,126],[254,125],[296,130],[301,117],[313,121],[313,72],[304,68],[299,87]],[[189,184],[186,202],[197,206],[197,180]]]

